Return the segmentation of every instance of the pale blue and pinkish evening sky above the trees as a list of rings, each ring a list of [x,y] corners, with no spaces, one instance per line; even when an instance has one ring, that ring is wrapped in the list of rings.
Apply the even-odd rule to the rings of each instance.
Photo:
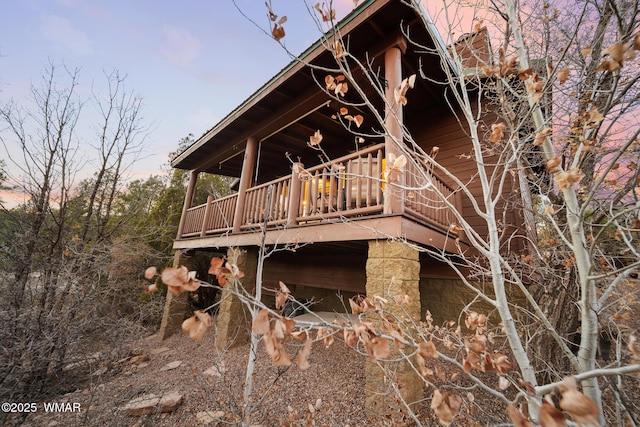
[[[92,84],[104,88],[103,72],[126,74],[127,89],[144,98],[145,123],[154,126],[140,175],[158,173],[182,137],[201,135],[291,60],[231,0],[6,3],[0,17],[0,102],[27,102],[49,61],[79,67],[80,91],[87,96]],[[236,3],[268,27],[264,1]],[[352,0],[334,3],[338,18],[353,8]],[[293,53],[317,40],[320,30],[307,10],[313,2],[272,0],[272,6],[288,17],[284,41]]]

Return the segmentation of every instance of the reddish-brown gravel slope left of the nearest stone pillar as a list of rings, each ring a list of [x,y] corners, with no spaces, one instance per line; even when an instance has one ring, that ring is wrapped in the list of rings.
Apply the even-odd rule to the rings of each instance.
[[[224,413],[220,422],[208,425],[229,425],[241,413],[249,347],[240,345],[218,354],[213,344],[210,333],[199,343],[182,333],[163,342],[158,342],[155,336],[140,340],[130,354],[141,357],[93,364],[90,369],[94,374],[105,372],[91,375],[91,382],[84,389],[51,399],[51,402],[80,403],[80,413],[45,414],[40,404],[39,411],[23,425],[201,426],[203,423],[197,414],[202,411]],[[295,354],[295,349],[290,348],[290,353]],[[137,360],[142,361],[136,363]],[[182,364],[161,371],[176,361]],[[291,420],[292,425],[306,425],[311,405],[316,425],[365,425],[362,421],[364,359],[336,343],[329,349],[314,345],[310,362],[311,367],[306,371],[295,366],[278,369],[271,366],[260,348],[254,376],[254,396],[260,403],[256,405],[252,422],[275,426]],[[222,375],[206,375],[205,371],[213,366],[218,367],[218,372],[223,371]],[[137,418],[127,416],[120,409],[136,397],[171,392],[183,394],[184,400],[170,414]]]

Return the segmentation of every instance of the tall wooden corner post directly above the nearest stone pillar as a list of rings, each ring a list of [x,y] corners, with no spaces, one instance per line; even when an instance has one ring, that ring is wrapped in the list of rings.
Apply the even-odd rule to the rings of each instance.
[[[385,89],[385,125],[387,133],[384,137],[384,149],[387,159],[389,154],[400,154],[399,144],[403,144],[402,138],[402,104],[396,102],[394,90],[402,83],[402,52],[405,46],[396,44],[384,53],[384,77],[387,83]],[[390,167],[387,160],[387,167]],[[404,174],[398,175],[398,182],[387,183],[384,187],[384,213],[399,214],[404,212]]]

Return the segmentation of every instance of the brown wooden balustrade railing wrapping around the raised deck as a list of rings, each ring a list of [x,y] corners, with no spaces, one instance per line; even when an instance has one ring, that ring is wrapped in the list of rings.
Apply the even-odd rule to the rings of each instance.
[[[382,214],[385,163],[384,144],[378,144],[308,169],[294,167],[289,176],[249,188],[244,206],[237,206],[237,194],[217,200],[210,197],[206,204],[185,212],[178,238],[247,231],[262,226],[265,218],[270,228]],[[440,197],[459,207],[460,199],[453,189],[435,174],[410,165],[405,185],[406,214],[445,230],[450,227],[451,214]],[[240,224],[234,228],[236,209],[241,210]]]

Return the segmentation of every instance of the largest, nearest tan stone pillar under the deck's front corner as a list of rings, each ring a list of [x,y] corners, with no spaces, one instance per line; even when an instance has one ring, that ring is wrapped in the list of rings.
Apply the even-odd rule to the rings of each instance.
[[[420,320],[420,261],[417,250],[402,242],[369,241],[366,273],[367,296],[389,298],[409,295],[413,302],[410,307],[400,309],[390,303],[388,309],[399,317],[410,317],[407,321],[417,323]],[[411,404],[424,399],[422,380],[408,362],[382,363],[405,402]],[[365,408],[368,412],[383,415],[400,407],[388,378],[377,364],[368,361],[365,376]]]

